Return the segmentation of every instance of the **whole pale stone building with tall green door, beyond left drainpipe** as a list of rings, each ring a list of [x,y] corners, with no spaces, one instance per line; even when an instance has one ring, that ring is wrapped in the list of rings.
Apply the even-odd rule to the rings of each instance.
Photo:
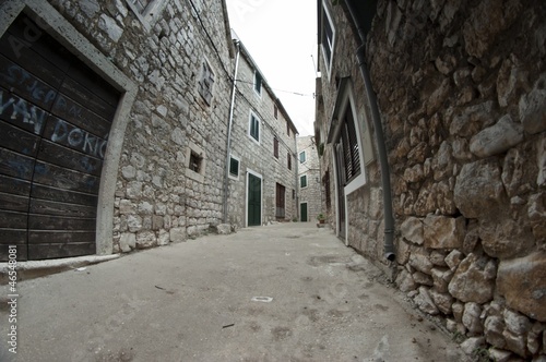
[[[238,39],[236,44],[240,57],[230,142],[228,222],[248,227],[292,220],[297,215],[297,130],[247,48]]]

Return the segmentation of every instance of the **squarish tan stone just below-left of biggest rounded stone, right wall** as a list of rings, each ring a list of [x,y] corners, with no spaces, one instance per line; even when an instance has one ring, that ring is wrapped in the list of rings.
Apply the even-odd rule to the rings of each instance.
[[[464,241],[464,217],[446,217],[429,214],[424,221],[425,248],[459,249]]]

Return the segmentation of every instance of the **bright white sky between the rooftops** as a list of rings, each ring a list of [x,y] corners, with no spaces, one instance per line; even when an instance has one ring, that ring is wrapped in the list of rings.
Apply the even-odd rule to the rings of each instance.
[[[226,0],[226,3],[232,28],[281,99],[299,135],[313,134],[317,0]]]

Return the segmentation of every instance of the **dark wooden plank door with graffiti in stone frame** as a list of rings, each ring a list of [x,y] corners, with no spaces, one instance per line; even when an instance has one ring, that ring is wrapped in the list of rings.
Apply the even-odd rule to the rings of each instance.
[[[0,39],[0,260],[94,254],[119,93],[21,15]]]

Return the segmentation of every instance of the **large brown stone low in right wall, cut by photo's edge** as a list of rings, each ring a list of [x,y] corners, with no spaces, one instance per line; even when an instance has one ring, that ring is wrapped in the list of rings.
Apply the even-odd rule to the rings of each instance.
[[[497,290],[508,306],[541,322],[546,322],[546,253],[501,261]]]

